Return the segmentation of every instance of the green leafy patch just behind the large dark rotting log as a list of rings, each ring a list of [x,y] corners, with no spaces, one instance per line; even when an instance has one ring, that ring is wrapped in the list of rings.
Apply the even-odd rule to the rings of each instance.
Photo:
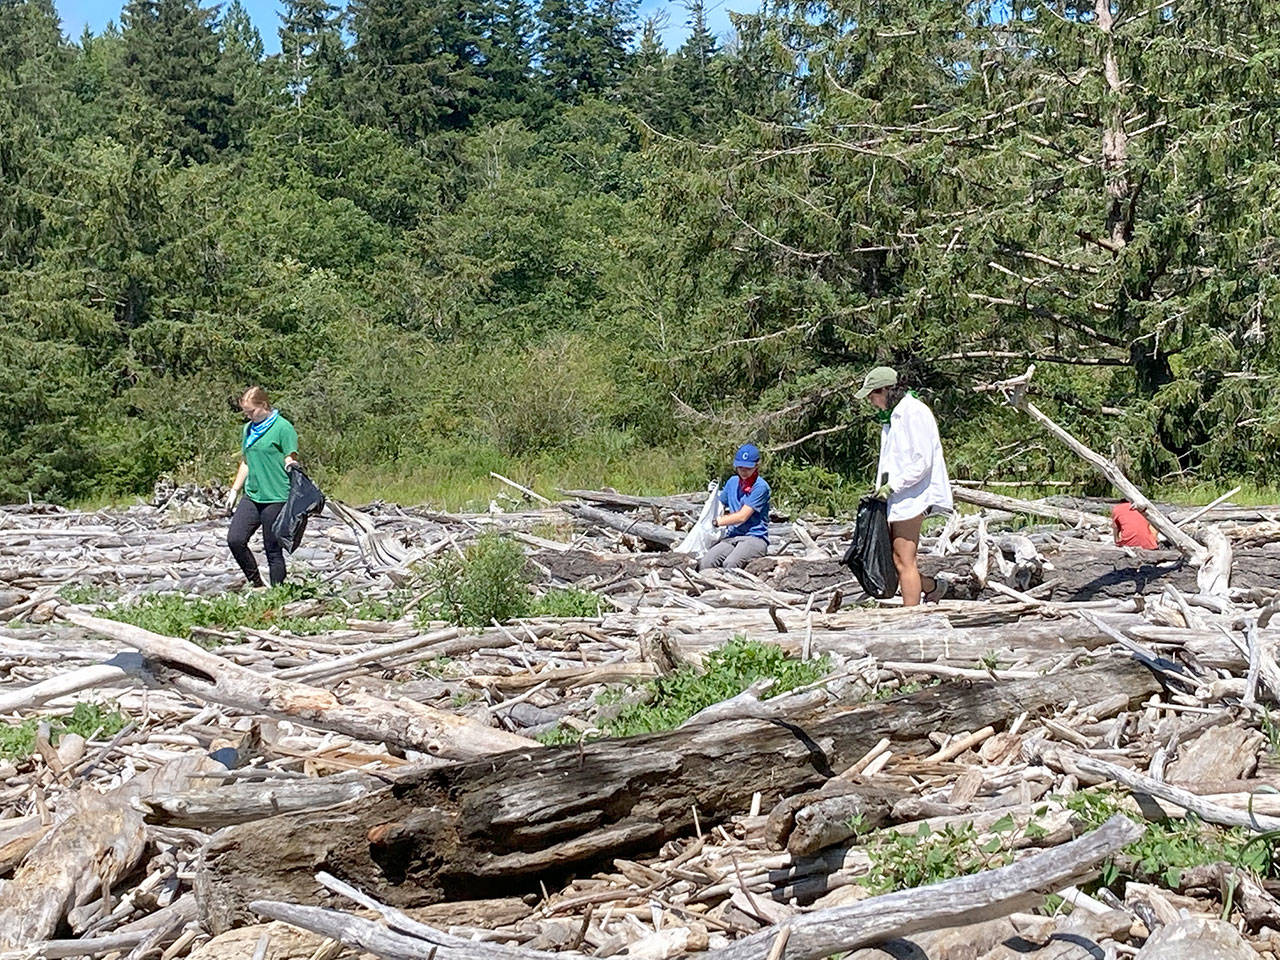
[[[762,677],[777,681],[768,694],[777,696],[820,680],[829,669],[831,663],[826,657],[797,660],[787,657],[780,646],[739,636],[712,650],[707,655],[704,669],[686,667],[645,684],[652,694],[648,701],[628,704],[612,719],[600,722],[600,736],[626,737],[672,730],[699,710],[736,696]],[[609,705],[620,698],[617,691],[604,691],[596,698],[596,703]],[[544,744],[577,742],[579,739],[576,732],[562,727],[539,737]]]

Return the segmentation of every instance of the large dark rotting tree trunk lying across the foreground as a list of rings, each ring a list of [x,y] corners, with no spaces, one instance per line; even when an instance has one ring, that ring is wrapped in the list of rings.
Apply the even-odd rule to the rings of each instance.
[[[219,831],[196,887],[214,929],[248,919],[250,900],[323,896],[317,864],[397,905],[527,888],[605,855],[654,850],[694,827],[767,806],[846,769],[882,737],[932,753],[934,730],[1004,724],[1027,710],[1158,689],[1110,658],[1004,684],[943,684],[819,717],[740,719],[582,746],[513,751],[416,772],[378,795]]]

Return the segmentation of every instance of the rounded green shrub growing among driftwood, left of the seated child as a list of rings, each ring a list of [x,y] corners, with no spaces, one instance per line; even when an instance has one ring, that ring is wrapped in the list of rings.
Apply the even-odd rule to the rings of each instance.
[[[529,563],[513,541],[486,534],[463,556],[449,553],[428,566],[428,596],[422,614],[468,627],[502,623],[527,616]]]

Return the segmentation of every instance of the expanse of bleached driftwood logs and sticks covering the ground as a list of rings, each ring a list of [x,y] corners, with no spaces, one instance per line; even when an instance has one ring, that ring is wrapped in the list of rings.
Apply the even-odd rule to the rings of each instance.
[[[0,950],[1280,955],[1270,881],[1128,846],[1148,820],[1263,850],[1280,827],[1280,508],[1162,512],[1189,544],[1139,553],[1097,502],[957,489],[979,509],[922,552],[964,599],[904,609],[838,564],[845,522],[778,517],[768,557],[699,572],[671,550],[699,495],[512,489],[484,515],[334,504],[293,557],[329,599],[189,637],[110,617],[239,589],[214,498],[0,509],[0,710],[36,728],[0,769]],[[489,531],[599,616],[424,622],[422,564]],[[379,598],[398,616],[356,617]],[[602,691],[737,636],[826,675],[596,736]],[[55,737],[77,703],[127,723]],[[1080,803],[1096,785],[1111,808]],[[1135,879],[1089,886],[1111,863]]]

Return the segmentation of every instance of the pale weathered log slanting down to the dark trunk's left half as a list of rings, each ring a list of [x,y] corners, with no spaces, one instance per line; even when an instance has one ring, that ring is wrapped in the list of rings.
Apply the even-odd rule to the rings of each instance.
[[[307,684],[264,676],[188,640],[152,634],[131,623],[91,617],[74,608],[63,607],[59,612],[77,626],[140,650],[163,682],[210,703],[294,719],[357,740],[385,742],[388,746],[420,750],[447,759],[540,748],[536,741],[485,727],[413,700],[384,700],[358,690],[338,696]]]

